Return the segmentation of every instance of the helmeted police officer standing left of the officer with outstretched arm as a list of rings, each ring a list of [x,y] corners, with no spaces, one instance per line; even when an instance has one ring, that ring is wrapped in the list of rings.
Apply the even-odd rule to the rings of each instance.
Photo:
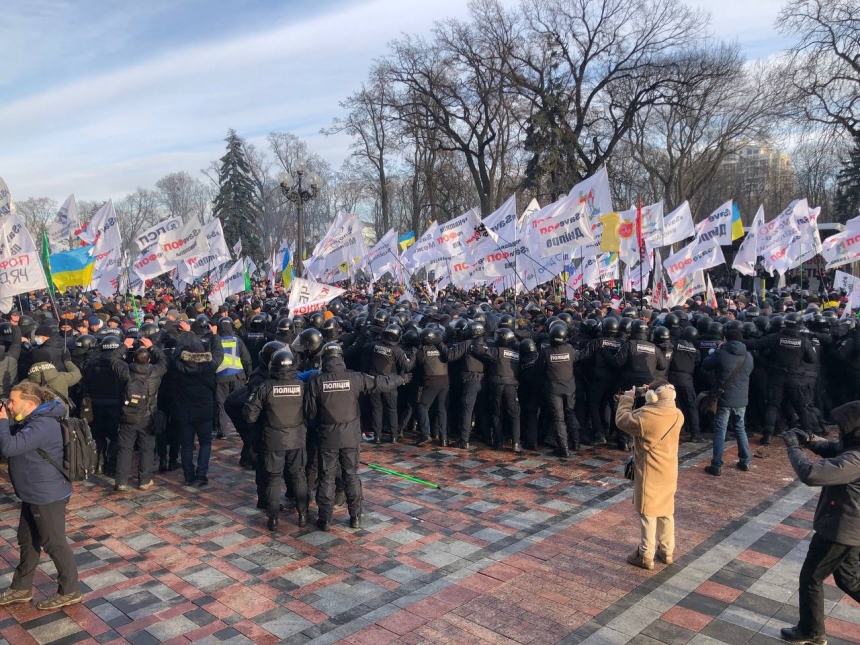
[[[297,374],[292,352],[288,349],[275,352],[269,361],[270,378],[251,393],[242,411],[248,423],[255,423],[261,414],[264,416],[263,460],[267,474],[266,513],[270,531],[278,528],[280,482],[285,464],[290,473],[299,526],[308,523],[305,384]]]

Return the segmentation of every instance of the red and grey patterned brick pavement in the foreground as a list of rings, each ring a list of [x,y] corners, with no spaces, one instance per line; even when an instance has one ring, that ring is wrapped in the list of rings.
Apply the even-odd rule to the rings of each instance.
[[[204,490],[159,476],[147,492],[76,485],[70,505],[83,605],[0,609],[0,637],[28,643],[771,643],[796,615],[814,491],[777,446],[750,473],[704,475],[682,446],[676,564],[624,562],[636,543],[624,458],[368,447],[364,529],[295,515],[270,534],[235,441],[217,442]],[[5,479],[5,476],[4,476]],[[0,495],[0,587],[17,562],[18,507]],[[43,560],[37,598],[56,589]],[[860,606],[828,588],[831,643],[860,643]],[[2,642],[2,641],[0,641]]]

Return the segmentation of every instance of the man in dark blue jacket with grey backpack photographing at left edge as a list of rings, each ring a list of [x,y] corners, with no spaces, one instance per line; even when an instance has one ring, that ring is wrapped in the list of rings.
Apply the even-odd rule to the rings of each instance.
[[[58,609],[81,602],[75,557],[66,542],[66,506],[72,484],[39,454],[44,451],[55,462],[63,461],[63,434],[59,420],[66,407],[54,393],[35,383],[12,388],[9,407],[0,406],[0,454],[9,458],[9,477],[21,499],[18,546],[21,562],[9,589],[0,593],[0,606],[30,602],[33,575],[44,550],[57,568],[56,595],[36,605]],[[10,428],[9,418],[15,424]]]

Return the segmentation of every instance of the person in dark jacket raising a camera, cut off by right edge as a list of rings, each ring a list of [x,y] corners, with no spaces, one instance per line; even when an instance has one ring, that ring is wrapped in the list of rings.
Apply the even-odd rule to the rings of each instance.
[[[860,401],[831,412],[839,439],[827,441],[810,431],[782,435],[788,458],[807,486],[821,486],[812,527],[815,534],[800,570],[800,621],[782,629],[790,643],[823,645],[824,581],[831,574],[842,591],[860,602]],[[823,459],[811,462],[804,444]]]

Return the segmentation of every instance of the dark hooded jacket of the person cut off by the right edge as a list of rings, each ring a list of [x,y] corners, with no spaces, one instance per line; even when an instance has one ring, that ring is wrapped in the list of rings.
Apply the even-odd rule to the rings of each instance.
[[[841,440],[808,444],[816,455],[811,462],[799,446],[788,449],[788,459],[807,486],[821,486],[812,527],[828,542],[860,546],[860,401],[831,412]]]

